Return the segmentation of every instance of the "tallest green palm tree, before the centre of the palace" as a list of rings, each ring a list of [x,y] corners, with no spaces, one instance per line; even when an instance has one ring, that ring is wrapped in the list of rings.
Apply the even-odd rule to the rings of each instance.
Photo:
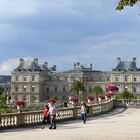
[[[81,101],[81,97],[79,98],[79,95],[80,94],[83,94],[83,92],[86,92],[86,88],[84,86],[84,83],[81,82],[81,81],[75,81],[72,85],[71,85],[71,88],[70,88],[70,91],[71,92],[75,92],[76,93],[76,96],[77,96],[77,99],[79,99],[79,101]]]

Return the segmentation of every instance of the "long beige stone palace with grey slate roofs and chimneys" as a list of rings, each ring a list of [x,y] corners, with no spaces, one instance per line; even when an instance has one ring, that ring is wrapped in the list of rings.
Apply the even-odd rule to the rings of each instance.
[[[140,96],[140,69],[136,66],[136,58],[123,61],[117,58],[118,64],[112,71],[93,70],[92,64],[74,63],[73,69],[57,72],[56,65],[48,66],[48,62],[40,64],[38,59],[20,59],[19,66],[12,72],[11,96],[13,100],[24,99],[27,103],[35,99],[37,102],[50,97],[57,97],[64,102],[70,95],[70,87],[76,80],[84,82],[86,94],[92,87],[100,85],[103,90],[114,84],[119,92],[128,90]]]

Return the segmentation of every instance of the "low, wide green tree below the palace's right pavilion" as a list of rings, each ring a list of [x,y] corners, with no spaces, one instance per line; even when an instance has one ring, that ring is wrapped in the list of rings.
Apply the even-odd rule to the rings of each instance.
[[[117,96],[117,99],[136,99],[136,97],[129,91],[123,91]]]

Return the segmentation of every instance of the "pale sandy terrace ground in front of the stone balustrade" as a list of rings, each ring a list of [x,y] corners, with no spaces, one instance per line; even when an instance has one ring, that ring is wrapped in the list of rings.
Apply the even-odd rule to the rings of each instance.
[[[9,129],[0,132],[0,140],[140,140],[140,109],[118,108],[114,111],[81,120],[48,127]]]

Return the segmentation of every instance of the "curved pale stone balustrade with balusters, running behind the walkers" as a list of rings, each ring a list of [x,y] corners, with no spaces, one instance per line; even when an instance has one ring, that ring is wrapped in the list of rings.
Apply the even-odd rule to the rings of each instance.
[[[110,111],[114,106],[114,100],[105,101],[89,106],[89,116],[102,114]],[[58,109],[60,116],[57,120],[78,119],[80,117],[80,107]],[[0,129],[25,127],[29,125],[41,124],[43,111],[8,113],[0,115]]]

